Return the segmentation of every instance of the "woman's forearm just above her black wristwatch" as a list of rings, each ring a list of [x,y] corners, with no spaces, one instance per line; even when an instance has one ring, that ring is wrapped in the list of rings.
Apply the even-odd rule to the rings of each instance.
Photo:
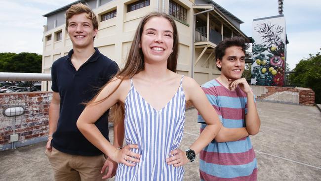
[[[194,150],[196,154],[210,143],[221,129],[222,124],[207,125],[201,132],[201,135],[196,139],[196,141],[190,146],[190,149]]]

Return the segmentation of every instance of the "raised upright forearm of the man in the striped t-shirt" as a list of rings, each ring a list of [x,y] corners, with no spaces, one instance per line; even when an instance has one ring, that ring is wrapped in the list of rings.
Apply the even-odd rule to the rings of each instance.
[[[247,93],[247,114],[245,115],[246,130],[249,135],[256,135],[261,126],[261,120],[256,109],[253,93]]]

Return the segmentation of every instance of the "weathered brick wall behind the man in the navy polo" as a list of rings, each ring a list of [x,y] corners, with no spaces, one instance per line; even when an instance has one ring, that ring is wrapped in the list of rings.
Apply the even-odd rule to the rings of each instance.
[[[16,117],[15,134],[19,140],[42,137],[48,134],[48,112],[52,92],[0,93],[0,145],[10,143],[14,117],[5,117],[7,106],[21,105],[25,113]]]

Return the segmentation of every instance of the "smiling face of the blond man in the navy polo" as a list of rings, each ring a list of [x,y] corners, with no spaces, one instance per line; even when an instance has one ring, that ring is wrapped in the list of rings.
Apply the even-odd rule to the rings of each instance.
[[[97,29],[93,28],[92,21],[86,17],[86,13],[73,15],[68,21],[68,34],[74,48],[93,47]]]

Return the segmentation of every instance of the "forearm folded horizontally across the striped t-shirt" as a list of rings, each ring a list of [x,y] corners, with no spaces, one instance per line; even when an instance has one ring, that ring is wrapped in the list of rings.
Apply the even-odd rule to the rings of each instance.
[[[225,128],[222,126],[215,140],[216,142],[237,141],[246,136],[248,136],[246,128]]]

